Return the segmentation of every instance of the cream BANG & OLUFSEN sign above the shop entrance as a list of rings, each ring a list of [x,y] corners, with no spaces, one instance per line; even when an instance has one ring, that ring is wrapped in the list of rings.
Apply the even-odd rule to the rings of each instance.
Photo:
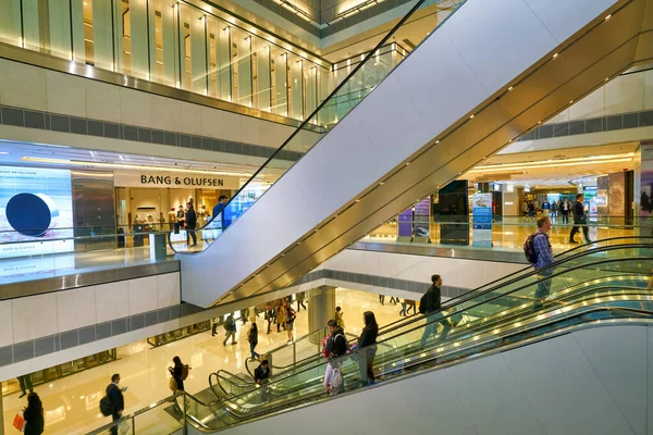
[[[236,190],[241,178],[213,174],[183,174],[175,172],[116,172],[116,187],[170,187],[177,189],[225,189]]]

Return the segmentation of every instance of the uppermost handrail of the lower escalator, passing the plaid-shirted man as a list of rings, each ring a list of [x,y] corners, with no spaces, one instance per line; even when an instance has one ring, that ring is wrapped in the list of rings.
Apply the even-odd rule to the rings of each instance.
[[[555,266],[559,266],[560,264],[564,264],[567,261],[572,261],[576,260],[578,258],[591,254],[591,253],[595,253],[595,252],[600,252],[600,251],[605,251],[605,250],[617,250],[617,249],[632,249],[632,248],[646,248],[650,247],[650,245],[648,244],[630,244],[630,245],[606,245],[606,246],[601,246],[601,247],[596,247],[596,244],[602,244],[602,243],[607,243],[607,241],[614,241],[614,240],[619,240],[619,239],[637,239],[637,240],[641,240],[641,239],[650,239],[653,241],[653,237],[638,237],[638,236],[630,236],[630,237],[611,237],[611,238],[606,238],[606,239],[601,239],[601,240],[596,240],[592,244],[592,247],[588,249],[588,245],[581,245],[581,246],[577,246],[574,247],[571,249],[568,249],[564,252],[558,253],[555,258],[557,260],[555,260],[550,266],[547,266],[547,269],[550,268],[555,268]],[[584,250],[583,250],[584,249]],[[574,251],[579,251],[572,254],[569,254],[569,252],[574,252]],[[560,258],[563,257],[563,258]],[[583,266],[587,264],[583,264]],[[491,283],[488,283],[479,288],[469,290],[464,293],[463,295],[458,295],[454,298],[451,298],[448,300],[446,300],[443,304],[442,308],[440,309],[440,311],[442,310],[448,310],[449,308],[452,308],[453,306],[457,304],[457,303],[464,303],[468,300],[470,300],[471,298],[476,298],[480,295],[483,294],[488,294],[491,291],[494,291],[496,289],[498,289],[500,287],[506,286],[506,285],[510,285],[514,284],[515,282],[522,279],[525,277],[528,276],[532,276],[532,275],[537,275],[538,271],[535,271],[533,269],[532,265],[529,265],[527,268],[523,268],[517,272],[512,273],[510,275],[504,276],[502,278],[495,279]],[[509,278],[509,279],[508,279]],[[507,279],[507,281],[506,281]],[[500,284],[496,284],[500,283]],[[484,287],[494,285],[493,287],[482,290]],[[479,290],[481,290],[479,293]],[[422,318],[424,316],[424,314],[421,313],[415,313],[411,314],[409,316],[403,318],[403,319],[398,319],[385,326],[383,326],[380,331],[379,331],[379,335],[383,335],[383,334],[389,334],[392,333],[393,331],[396,331],[398,328],[402,328],[404,326],[406,326],[409,323],[412,322],[417,322],[420,321]],[[401,325],[397,325],[398,323],[401,323]],[[315,334],[315,333],[311,333]],[[305,336],[303,336],[301,338],[308,337],[310,334],[307,334]],[[280,346],[273,350],[271,350],[270,352],[274,352],[278,350],[282,350],[284,348],[287,348],[287,345],[283,345]],[[312,362],[316,358],[319,359],[319,353],[317,356],[310,356],[307,357],[300,361],[297,361],[295,363],[288,364],[286,366],[274,366],[274,369],[281,369],[281,370],[288,370],[288,368],[293,366],[293,368],[299,368],[301,365],[308,364],[310,362]],[[249,373],[250,376],[254,377],[254,373],[251,373],[251,371],[249,370],[249,366],[247,365],[247,363],[245,363],[245,368],[247,369],[247,372]]]

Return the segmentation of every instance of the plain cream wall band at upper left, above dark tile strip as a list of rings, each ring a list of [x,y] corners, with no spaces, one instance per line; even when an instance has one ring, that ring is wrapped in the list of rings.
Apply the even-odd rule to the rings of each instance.
[[[93,77],[93,67],[88,71]],[[0,72],[3,105],[273,148],[295,129],[4,59],[0,59]]]

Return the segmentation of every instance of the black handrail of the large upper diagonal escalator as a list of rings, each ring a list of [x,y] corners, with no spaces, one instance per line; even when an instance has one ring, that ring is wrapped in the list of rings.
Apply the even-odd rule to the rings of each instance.
[[[326,96],[326,98],[324,98],[322,100],[322,102],[320,102],[318,104],[318,107],[311,112],[310,115],[306,116],[304,119],[304,121],[301,121],[301,124],[299,124],[299,126],[297,128],[295,128],[293,130],[293,133],[291,134],[291,136],[288,136],[288,138],[279,147],[276,148],[276,150],[274,150],[274,152],[272,152],[272,154],[268,158],[268,160],[266,160],[266,162],[258,169],[255,171],[255,173],[249,177],[249,179],[247,179],[247,182],[245,182],[245,184],[243,186],[241,186],[241,188],[231,197],[227,199],[226,203],[224,204],[224,207],[222,208],[222,210],[225,210],[232,202],[232,200],[234,198],[239,197],[239,195],[245,191],[246,188],[249,187],[249,184],[266,169],[268,167],[268,164],[272,161],[274,161],[278,156],[285,149],[285,147],[299,134],[299,132],[301,132],[305,127],[307,127],[309,125],[309,122],[316,116],[318,115],[318,113],[320,113],[320,111],[326,105],[326,103],[329,101],[331,101],[332,98],[336,97],[338,91],[341,89],[343,89],[348,83],[349,79],[352,79],[362,67],[364,65],[372,58],[375,55],[377,50],[383,48],[383,46],[385,46],[385,44],[391,39],[391,37],[408,21],[408,18],[410,18],[410,16],[412,16],[412,14],[415,12],[417,12],[417,10],[419,8],[421,8],[421,5],[426,2],[427,0],[418,0],[417,3],[415,3],[415,5],[412,8],[410,8],[410,10],[394,25],[394,27],[387,32],[385,34],[385,36],[383,38],[381,38],[381,40],[377,44],[377,46],[371,49],[367,54],[365,54],[365,57],[361,59],[360,62],[358,62],[356,64],[356,66],[354,66],[354,69],[352,70],[352,72],[338,84],[335,86],[335,88],[331,91],[331,94],[329,94],[329,96]],[[463,7],[463,4],[465,4],[467,2],[467,0],[460,0],[459,3],[455,4],[456,9]],[[444,24],[449,16],[452,16],[452,14],[448,14],[444,20],[442,20],[441,22],[438,23],[438,25],[435,26],[435,28],[433,30],[431,30],[432,33],[435,32],[436,28],[439,28],[442,24]],[[408,54],[406,54],[406,58],[410,55],[410,52]],[[389,73],[390,75],[390,73]],[[386,76],[387,77],[387,76]],[[377,85],[378,86],[378,85]],[[368,94],[369,95],[369,94]],[[364,97],[365,98],[365,97]],[[310,150],[309,150],[310,151]],[[295,162],[296,164],[296,162]],[[288,171],[286,171],[284,174],[281,175],[281,177],[283,177],[285,174],[287,174]],[[263,194],[264,195],[264,194]],[[260,198],[259,198],[260,199]],[[246,212],[246,211],[245,211]],[[245,213],[243,212],[243,213]],[[207,222],[207,224],[200,228],[197,228],[196,231],[201,231],[207,228],[209,225],[212,224],[213,220],[217,216],[211,216],[211,219]],[[222,228],[223,232],[227,231],[229,228]],[[169,235],[168,237],[169,244],[170,244],[170,248],[177,253],[182,253],[182,254],[196,254],[196,253],[200,253],[201,251],[198,252],[188,252],[188,251],[177,251],[173,248],[172,246],[172,240],[171,237]]]

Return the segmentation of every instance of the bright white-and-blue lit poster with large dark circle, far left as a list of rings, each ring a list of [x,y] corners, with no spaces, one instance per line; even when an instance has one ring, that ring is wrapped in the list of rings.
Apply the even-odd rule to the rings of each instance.
[[[0,258],[72,252],[72,227],[70,171],[0,166]]]

